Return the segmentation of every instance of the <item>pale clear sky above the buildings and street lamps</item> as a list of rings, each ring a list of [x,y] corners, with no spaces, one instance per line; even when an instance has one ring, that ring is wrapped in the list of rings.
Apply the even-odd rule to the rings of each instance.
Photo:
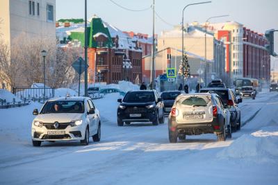
[[[115,5],[129,8],[129,11]],[[207,1],[207,0],[203,0]],[[184,12],[184,22],[204,22],[208,17],[218,15],[229,15],[211,19],[211,22],[238,21],[247,28],[258,33],[265,33],[270,28],[278,29],[278,1],[277,0],[211,0],[195,6],[188,6]],[[120,30],[134,31],[136,33],[152,34],[152,10],[150,9],[153,0],[87,0],[88,14],[101,17],[104,21],[116,26]],[[161,35],[162,30],[171,30],[172,25],[181,24],[183,7],[190,3],[199,1],[185,0],[155,0],[155,33]],[[84,0],[56,0],[56,19],[61,18],[83,18]],[[165,23],[167,22],[167,24]],[[275,33],[275,51],[278,53],[278,32]],[[278,69],[278,58],[275,58],[275,68]],[[273,60],[272,60],[273,61]],[[273,64],[273,62],[272,62]]]

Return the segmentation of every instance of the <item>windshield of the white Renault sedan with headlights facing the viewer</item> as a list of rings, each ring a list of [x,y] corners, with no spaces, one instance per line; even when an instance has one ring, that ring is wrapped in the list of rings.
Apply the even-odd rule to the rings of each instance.
[[[48,101],[45,103],[40,114],[51,113],[83,113],[84,103],[82,100]]]

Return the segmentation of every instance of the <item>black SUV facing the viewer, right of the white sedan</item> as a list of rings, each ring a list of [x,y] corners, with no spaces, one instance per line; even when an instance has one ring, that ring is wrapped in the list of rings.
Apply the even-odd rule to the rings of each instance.
[[[131,122],[164,123],[163,101],[155,90],[129,91],[124,99],[117,100],[117,125]]]

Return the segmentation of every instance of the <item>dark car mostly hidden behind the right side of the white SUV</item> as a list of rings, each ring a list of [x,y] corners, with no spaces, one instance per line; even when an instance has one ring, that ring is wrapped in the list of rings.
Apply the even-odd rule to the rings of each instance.
[[[236,94],[234,94],[234,91],[228,88],[203,88],[200,90],[202,93],[206,92],[213,92],[215,94],[218,94],[220,98],[222,99],[222,102],[224,104],[224,107],[227,107],[229,109],[229,112],[231,114],[231,130],[236,131],[240,130],[241,127],[241,121],[240,121],[240,108],[238,107],[238,103],[242,103],[243,100],[241,98],[236,98]]]

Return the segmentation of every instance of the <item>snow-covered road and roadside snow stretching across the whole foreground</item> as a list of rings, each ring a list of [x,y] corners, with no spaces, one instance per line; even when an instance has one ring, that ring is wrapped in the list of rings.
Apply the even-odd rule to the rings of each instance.
[[[31,112],[41,105],[0,109],[0,184],[277,184],[277,93],[244,99],[245,126],[224,142],[203,134],[169,143],[166,119],[158,126],[117,127],[116,100],[95,100],[102,136],[89,146],[45,142],[34,148]]]

